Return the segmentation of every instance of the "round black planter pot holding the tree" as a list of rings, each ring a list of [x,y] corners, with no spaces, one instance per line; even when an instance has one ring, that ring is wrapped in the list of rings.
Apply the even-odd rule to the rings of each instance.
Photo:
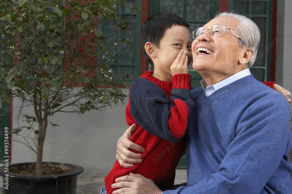
[[[1,166],[0,175],[3,176],[4,194],[76,194],[77,176],[83,172],[84,168],[73,164],[43,162],[43,164],[44,163],[60,167],[65,173],[41,176],[20,175],[5,172],[5,165]],[[35,162],[14,163],[9,164],[9,167],[25,164],[35,164]],[[8,174],[8,181],[6,174]],[[8,190],[6,189],[7,185]]]

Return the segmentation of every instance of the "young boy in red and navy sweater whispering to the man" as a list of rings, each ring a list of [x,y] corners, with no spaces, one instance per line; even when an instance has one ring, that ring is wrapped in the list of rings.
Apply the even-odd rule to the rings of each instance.
[[[188,114],[194,105],[188,74],[192,60],[189,27],[185,19],[171,12],[155,14],[142,25],[142,49],[154,71],[145,72],[131,84],[126,121],[129,126],[138,125],[131,141],[145,148],[144,162],[123,168],[116,161],[101,193],[112,193],[115,179],[130,172],[152,179],[159,187],[173,185],[185,148],[182,139]]]

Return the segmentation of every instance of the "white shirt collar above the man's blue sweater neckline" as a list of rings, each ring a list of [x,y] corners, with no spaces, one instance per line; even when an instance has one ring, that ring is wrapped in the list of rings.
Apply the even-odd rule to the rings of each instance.
[[[239,80],[245,76],[248,76],[250,75],[251,72],[248,68],[230,76],[230,77],[227,77],[226,79],[220,81],[219,83],[216,83],[214,84],[213,86],[207,86],[206,88],[206,85],[205,85],[205,80],[202,79],[201,80],[201,85],[202,87],[204,88],[205,92],[206,92],[206,96],[210,96],[213,92],[215,92],[216,90],[220,89],[220,88],[223,88],[224,86],[227,86],[228,84],[236,81],[236,80]]]

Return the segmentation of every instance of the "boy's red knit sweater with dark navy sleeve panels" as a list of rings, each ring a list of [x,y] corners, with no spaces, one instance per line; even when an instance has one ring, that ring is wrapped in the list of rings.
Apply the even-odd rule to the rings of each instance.
[[[182,137],[184,136],[187,127],[187,116],[189,109],[193,104],[190,103],[192,100],[190,99],[190,96],[187,97],[188,94],[185,95],[185,100],[184,97],[181,97],[182,100],[178,97],[174,97],[175,99],[173,99],[171,94],[174,96],[175,92],[180,94],[184,92],[190,93],[191,76],[188,74],[177,74],[172,77],[172,82],[165,82],[154,78],[152,73],[153,72],[146,72],[140,78],[136,79],[137,81],[135,80],[131,84],[131,89],[134,92],[133,95],[131,95],[130,89],[129,102],[126,107],[127,124],[129,126],[133,123],[138,125],[137,130],[130,138],[130,140],[145,148],[145,152],[141,153],[143,162],[140,164],[135,164],[132,168],[123,168],[119,165],[119,162],[116,161],[113,169],[105,177],[105,188],[109,194],[114,191],[111,185],[115,183],[115,179],[124,175],[128,175],[130,172],[141,174],[148,179],[152,179],[159,187],[173,185],[174,183],[175,168],[178,165],[180,157],[185,148],[185,140]],[[139,81],[141,81],[141,83]],[[183,89],[183,91],[181,89]],[[173,91],[175,92],[172,93]],[[133,97],[136,101],[130,103],[130,100]],[[162,102],[162,98],[164,99],[164,103],[168,101],[168,104],[164,104]],[[189,98],[189,101],[187,98]],[[175,101],[175,103],[171,100]],[[145,105],[145,103],[147,106],[149,106],[149,109],[143,107],[143,104]],[[151,111],[155,113],[163,109],[160,107],[160,104],[163,104],[163,108],[166,107],[166,109],[161,112],[160,117],[153,115],[151,118]],[[137,108],[138,110],[135,111]],[[138,116],[141,118],[139,118],[141,121],[137,119],[139,120],[139,122],[137,122],[131,113],[134,115],[136,115],[136,113],[141,113]],[[164,116],[164,113],[167,115]],[[154,121],[155,118],[159,120],[159,123],[157,120]],[[152,126],[152,129],[155,129],[155,125],[160,127],[161,124],[161,129],[155,129],[156,131],[150,133],[148,132],[150,129],[147,131],[143,129],[140,124],[145,127],[148,126],[147,124],[149,124],[149,128]],[[162,125],[168,125],[169,127],[169,129],[165,132],[166,134],[172,134],[170,136],[178,139],[174,142],[171,142],[153,135],[158,130],[164,130],[162,129]],[[131,151],[138,153],[134,150]]]

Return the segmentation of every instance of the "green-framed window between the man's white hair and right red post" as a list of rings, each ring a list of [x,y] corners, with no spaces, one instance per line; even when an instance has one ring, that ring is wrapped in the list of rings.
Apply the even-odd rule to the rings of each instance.
[[[253,20],[260,28],[261,40],[257,59],[251,67],[253,76],[261,82],[270,81],[272,43],[272,4],[264,0],[229,0],[229,11],[235,10]]]

